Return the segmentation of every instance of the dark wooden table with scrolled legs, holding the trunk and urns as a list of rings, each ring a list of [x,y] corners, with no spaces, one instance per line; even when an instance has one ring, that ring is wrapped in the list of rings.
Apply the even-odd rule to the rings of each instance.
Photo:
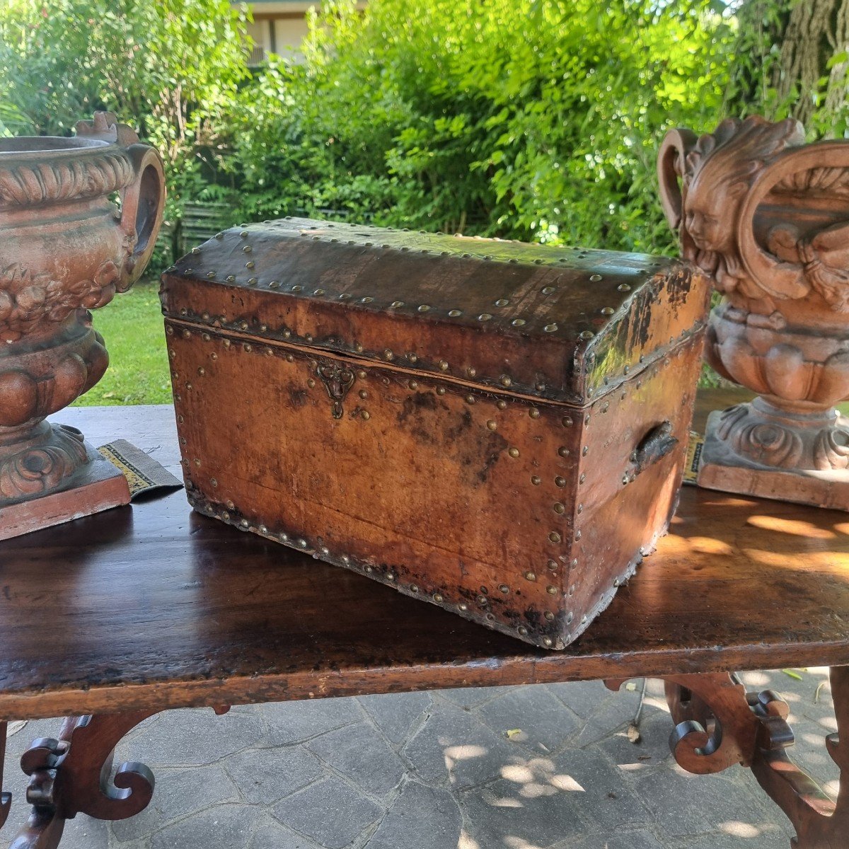
[[[702,396],[706,411],[737,396]],[[172,411],[72,409],[177,470]],[[790,761],[787,706],[733,670],[831,666],[841,795]],[[799,849],[849,845],[849,515],[685,488],[672,531],[580,640],[532,649],[250,533],[193,514],[183,492],[0,543],[4,722],[68,715],[35,741],[29,824],[14,849],[57,846],[66,818],[145,807],[153,776],[111,752],[171,708],[604,678],[666,681],[672,747],[694,773],[742,763],[790,817]],[[839,744],[842,735],[843,745]],[[102,779],[101,776],[104,776]],[[0,824],[8,795],[0,798]]]

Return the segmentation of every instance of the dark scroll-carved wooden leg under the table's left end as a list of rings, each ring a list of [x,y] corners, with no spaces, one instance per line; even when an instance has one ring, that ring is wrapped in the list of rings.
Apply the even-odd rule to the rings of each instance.
[[[228,707],[216,707],[223,713]],[[30,818],[10,849],[55,849],[65,820],[87,813],[97,819],[126,819],[143,811],[154,792],[154,776],[143,763],[122,763],[110,780],[115,746],[139,722],[159,711],[128,711],[69,717],[59,739],[40,738],[20,759],[30,776]],[[2,777],[2,776],[0,776]]]

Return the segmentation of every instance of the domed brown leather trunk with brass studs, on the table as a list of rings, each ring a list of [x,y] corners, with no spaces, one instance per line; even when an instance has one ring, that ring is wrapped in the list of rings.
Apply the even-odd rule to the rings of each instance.
[[[162,281],[200,513],[548,649],[666,531],[710,294],[686,264],[286,218]]]

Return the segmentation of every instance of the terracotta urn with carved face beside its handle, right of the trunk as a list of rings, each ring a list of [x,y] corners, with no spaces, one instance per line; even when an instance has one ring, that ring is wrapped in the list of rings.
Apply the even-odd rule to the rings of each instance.
[[[700,486],[849,509],[849,142],[797,121],[667,134],[658,171],[683,255],[722,301],[706,356],[757,393],[711,413]]]

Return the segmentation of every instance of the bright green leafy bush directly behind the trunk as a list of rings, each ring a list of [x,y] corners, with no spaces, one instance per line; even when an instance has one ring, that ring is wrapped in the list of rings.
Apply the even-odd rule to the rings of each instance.
[[[353,0],[239,92],[239,216],[671,244],[655,151],[720,117],[734,20],[689,0]],[[224,192],[222,194],[228,194]]]

